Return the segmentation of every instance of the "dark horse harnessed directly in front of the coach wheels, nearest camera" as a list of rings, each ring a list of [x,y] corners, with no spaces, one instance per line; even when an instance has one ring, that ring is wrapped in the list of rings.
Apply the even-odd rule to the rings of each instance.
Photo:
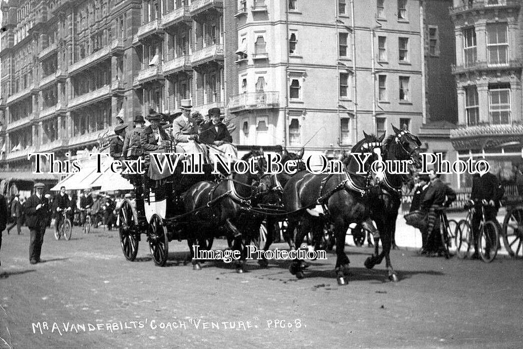
[[[233,250],[241,251],[241,260],[236,265],[236,271],[243,273],[245,251],[241,231],[237,228],[243,208],[250,206],[250,201],[258,190],[258,181],[266,168],[263,152],[253,150],[242,157],[249,162],[254,159],[254,170],[258,173],[233,173],[218,183],[201,181],[192,185],[183,195],[185,212],[195,211],[187,219],[186,226],[192,232],[187,240],[191,250],[194,269],[200,269],[200,260],[194,255],[192,245],[198,242],[200,250],[206,250],[206,240],[226,236],[233,241]]]

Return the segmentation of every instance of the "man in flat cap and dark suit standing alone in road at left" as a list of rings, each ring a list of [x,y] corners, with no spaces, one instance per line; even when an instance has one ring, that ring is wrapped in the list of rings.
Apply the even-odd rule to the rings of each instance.
[[[50,216],[49,202],[43,195],[43,183],[36,183],[34,188],[35,194],[29,196],[25,203],[27,226],[31,232],[29,244],[29,262],[31,264],[40,262],[43,235],[46,232]]]

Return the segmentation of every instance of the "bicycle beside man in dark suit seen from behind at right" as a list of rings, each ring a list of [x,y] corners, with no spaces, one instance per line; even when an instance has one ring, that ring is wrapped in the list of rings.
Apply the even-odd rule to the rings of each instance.
[[[497,255],[499,246],[499,231],[501,227],[497,220],[485,220],[484,207],[488,206],[485,200],[481,204],[481,221],[479,229],[479,241],[477,241],[477,249],[480,258],[485,263],[492,262]],[[471,247],[476,245],[474,234],[472,233],[472,205],[466,205],[468,209],[467,218],[458,222],[456,227],[456,254],[459,258],[468,258]]]

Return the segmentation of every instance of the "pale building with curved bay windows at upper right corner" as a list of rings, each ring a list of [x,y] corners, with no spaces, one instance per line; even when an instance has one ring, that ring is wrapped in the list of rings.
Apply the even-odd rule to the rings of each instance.
[[[453,5],[459,127],[451,132],[452,144],[458,158],[483,157],[503,176],[523,154],[521,1]],[[470,176],[460,176],[459,184],[470,187]]]

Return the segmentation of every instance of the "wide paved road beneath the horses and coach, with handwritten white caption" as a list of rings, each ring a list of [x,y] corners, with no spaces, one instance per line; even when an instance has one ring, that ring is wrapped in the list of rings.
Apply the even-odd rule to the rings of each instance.
[[[338,286],[333,254],[297,281],[285,261],[269,269],[251,261],[242,275],[223,263],[193,271],[181,262],[185,242],[177,241],[166,267],[154,266],[143,241],[138,261],[127,262],[112,231],[75,229],[70,241],[55,241],[48,230],[37,265],[29,264],[28,245],[27,228],[21,236],[4,232],[0,336],[16,348],[475,348],[523,341],[522,260],[485,264],[393,251],[402,280],[390,283],[383,265],[363,267],[370,249],[348,247],[352,276]],[[275,327],[275,320],[285,322]]]

